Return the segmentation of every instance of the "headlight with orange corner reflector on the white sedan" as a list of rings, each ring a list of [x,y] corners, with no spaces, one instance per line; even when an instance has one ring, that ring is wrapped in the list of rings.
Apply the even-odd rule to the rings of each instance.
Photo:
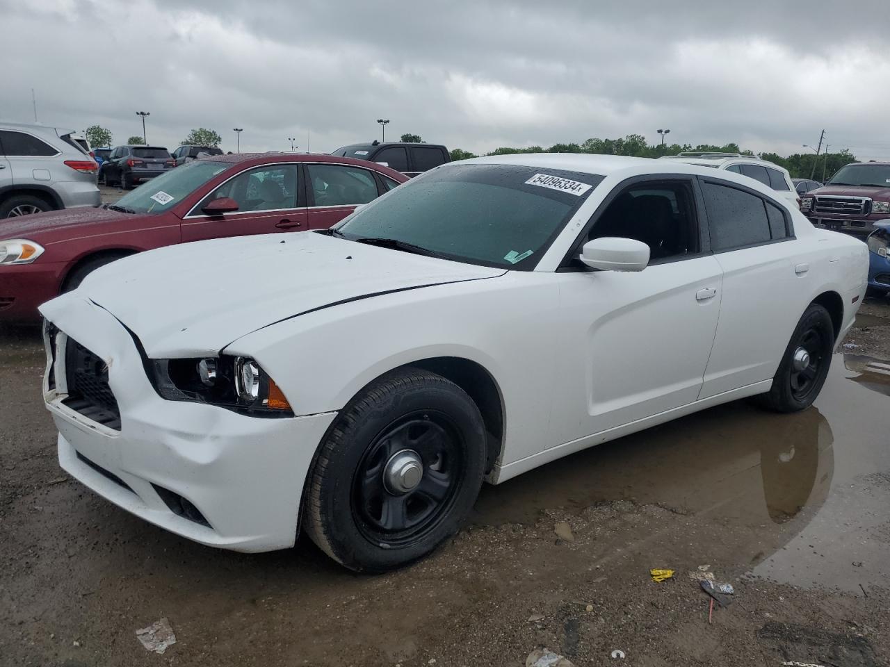
[[[247,357],[148,359],[161,398],[224,407],[261,417],[293,417],[284,393]]]

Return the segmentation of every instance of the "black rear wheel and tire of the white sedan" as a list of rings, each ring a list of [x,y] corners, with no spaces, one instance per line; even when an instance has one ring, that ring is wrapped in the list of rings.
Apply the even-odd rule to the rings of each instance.
[[[780,413],[812,406],[829,374],[834,339],[829,311],[811,303],[791,335],[773,386],[762,397],[764,405]]]

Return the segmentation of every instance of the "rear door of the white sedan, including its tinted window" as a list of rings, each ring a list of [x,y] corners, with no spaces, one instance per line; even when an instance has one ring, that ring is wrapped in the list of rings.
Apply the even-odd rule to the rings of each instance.
[[[768,197],[700,178],[711,249],[723,269],[723,301],[700,398],[769,380],[804,311],[791,217]]]

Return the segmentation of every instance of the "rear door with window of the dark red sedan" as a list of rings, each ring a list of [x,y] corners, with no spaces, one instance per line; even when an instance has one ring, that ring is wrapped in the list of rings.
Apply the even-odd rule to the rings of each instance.
[[[360,166],[306,165],[309,229],[328,229],[377,197],[374,172]]]

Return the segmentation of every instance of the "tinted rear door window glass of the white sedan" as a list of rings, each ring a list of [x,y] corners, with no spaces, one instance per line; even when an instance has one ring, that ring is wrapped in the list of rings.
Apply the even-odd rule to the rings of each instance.
[[[702,192],[708,211],[711,248],[715,253],[773,240],[763,199],[707,181],[702,183]],[[781,215],[781,212],[777,213]]]

